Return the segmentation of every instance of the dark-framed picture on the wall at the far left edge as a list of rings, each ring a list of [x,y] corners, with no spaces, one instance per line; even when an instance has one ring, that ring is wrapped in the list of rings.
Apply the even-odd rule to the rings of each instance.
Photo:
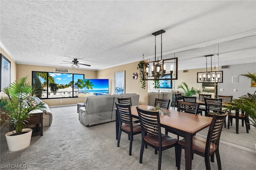
[[[1,83],[0,89],[4,89],[8,87],[11,83],[11,62],[4,57],[3,54],[1,55]]]

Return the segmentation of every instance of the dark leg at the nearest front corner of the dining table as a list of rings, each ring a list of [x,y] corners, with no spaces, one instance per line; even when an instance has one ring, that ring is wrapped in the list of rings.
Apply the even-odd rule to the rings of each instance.
[[[185,134],[185,166],[186,170],[192,168],[192,143],[193,135],[190,133]]]

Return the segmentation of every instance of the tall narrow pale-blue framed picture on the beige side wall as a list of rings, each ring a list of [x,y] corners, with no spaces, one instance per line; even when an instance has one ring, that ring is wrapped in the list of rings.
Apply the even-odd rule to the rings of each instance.
[[[125,93],[125,71],[115,72],[115,94]]]

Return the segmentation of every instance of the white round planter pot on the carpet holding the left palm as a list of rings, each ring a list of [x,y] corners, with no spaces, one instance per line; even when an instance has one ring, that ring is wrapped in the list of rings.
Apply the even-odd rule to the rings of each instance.
[[[22,132],[27,132],[27,133],[10,136],[13,134],[13,132],[16,133],[16,130],[13,130],[5,134],[8,149],[10,151],[22,150],[24,148],[27,148],[30,145],[30,140],[32,135],[31,128],[22,129]]]

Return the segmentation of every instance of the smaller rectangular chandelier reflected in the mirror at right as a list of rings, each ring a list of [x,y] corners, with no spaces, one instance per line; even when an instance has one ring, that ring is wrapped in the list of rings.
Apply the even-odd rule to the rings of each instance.
[[[212,56],[204,55],[206,57],[206,72],[197,73],[197,83],[223,83],[223,71],[212,71]],[[207,71],[207,57],[211,57],[211,71]]]

